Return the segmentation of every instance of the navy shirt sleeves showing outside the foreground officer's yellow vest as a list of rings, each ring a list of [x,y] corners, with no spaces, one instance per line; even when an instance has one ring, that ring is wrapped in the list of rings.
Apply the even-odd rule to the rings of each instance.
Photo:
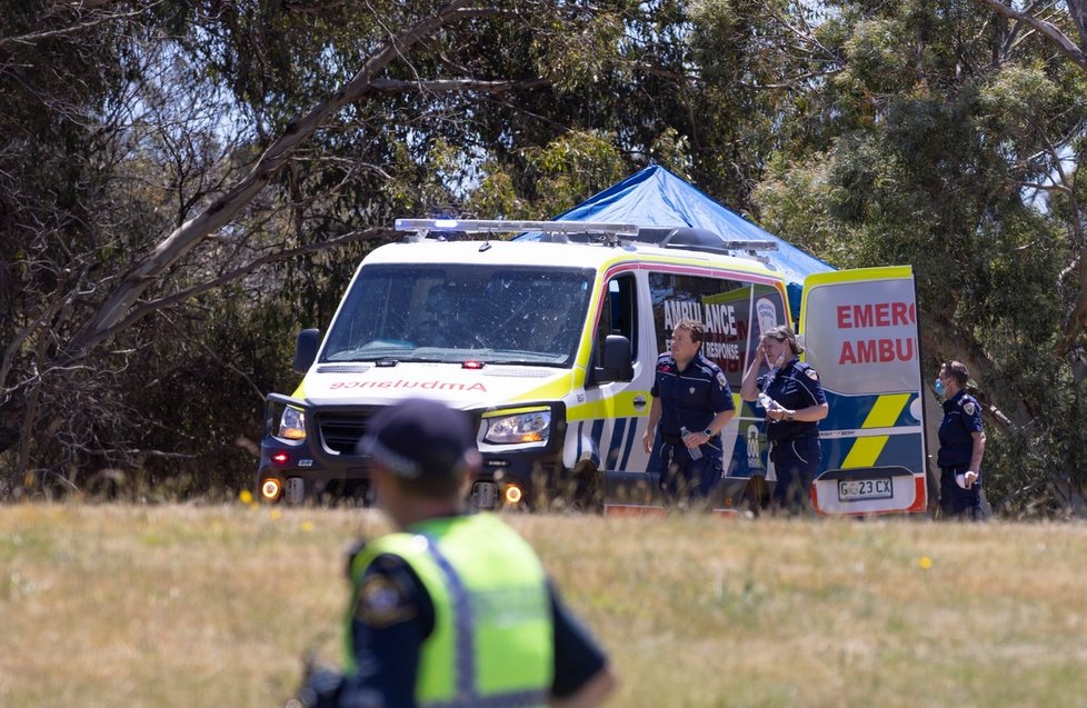
[[[566,609],[548,584],[555,627],[551,696],[577,691],[605,665],[604,651]],[[323,705],[413,708],[423,640],[435,626],[435,608],[419,576],[391,554],[378,556],[362,576],[351,619],[358,672],[346,677]]]

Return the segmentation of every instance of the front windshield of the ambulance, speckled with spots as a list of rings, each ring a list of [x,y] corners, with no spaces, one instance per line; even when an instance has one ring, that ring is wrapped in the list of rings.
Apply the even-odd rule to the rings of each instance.
[[[595,276],[584,268],[365,266],[321,360],[569,367]]]

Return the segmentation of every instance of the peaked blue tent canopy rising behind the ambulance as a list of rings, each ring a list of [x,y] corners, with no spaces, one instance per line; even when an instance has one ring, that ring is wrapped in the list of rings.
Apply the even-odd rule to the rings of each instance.
[[[639,227],[697,227],[714,231],[724,240],[774,241],[778,250],[768,251],[765,256],[788,282],[794,317],[799,310],[804,278],[835,270],[832,266],[729,211],[690,182],[656,164],[594,195],[555,219],[634,223]],[[533,237],[539,238],[539,235],[518,238]]]

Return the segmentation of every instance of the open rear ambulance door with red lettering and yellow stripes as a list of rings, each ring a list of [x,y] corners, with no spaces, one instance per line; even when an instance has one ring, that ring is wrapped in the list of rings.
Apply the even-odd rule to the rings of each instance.
[[[817,273],[800,302],[805,361],[830,412],[811,490],[822,515],[927,507],[917,298],[908,266]]]

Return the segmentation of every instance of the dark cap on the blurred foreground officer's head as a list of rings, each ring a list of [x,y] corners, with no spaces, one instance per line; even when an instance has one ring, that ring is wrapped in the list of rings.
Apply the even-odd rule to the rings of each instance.
[[[478,456],[468,415],[429,398],[382,408],[358,451],[405,479],[459,475]]]

